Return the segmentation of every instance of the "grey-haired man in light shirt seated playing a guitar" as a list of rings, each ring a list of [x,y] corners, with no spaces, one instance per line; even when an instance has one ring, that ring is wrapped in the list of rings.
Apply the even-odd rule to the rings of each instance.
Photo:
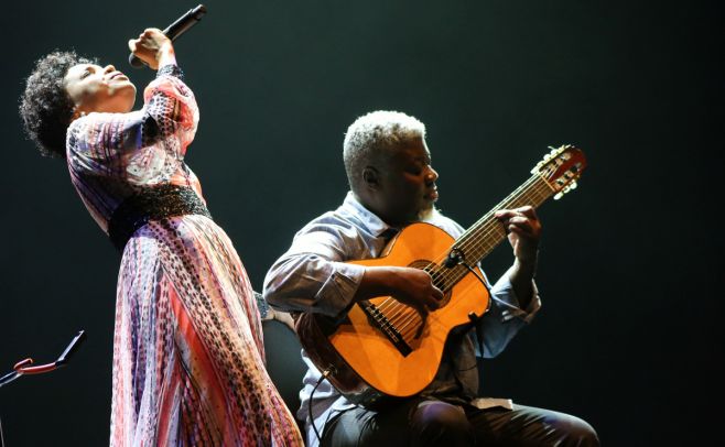
[[[452,238],[464,233],[458,224],[434,207],[439,197],[435,185],[439,174],[431,166],[425,127],[415,118],[389,111],[358,118],[345,137],[344,162],[351,189],[344,203],[302,228],[264,281],[268,302],[297,317],[297,332],[306,348],[303,359],[310,370],[304,378],[297,416],[305,421],[307,444],[598,445],[594,429],[577,417],[477,395],[476,356],[490,358],[501,352],[541,306],[533,282],[541,224],[534,208],[528,205],[497,209],[491,215],[513,248],[513,264],[490,287],[478,284],[486,281],[483,272],[474,272],[470,281],[477,283],[481,292],[474,301],[479,305],[485,303],[480,307],[485,313],[472,317],[474,324],[442,335],[444,348],[433,364],[430,383],[426,381],[413,395],[402,392],[400,395],[405,399],[372,405],[362,397],[356,402],[356,397],[340,393],[322,380],[323,373],[335,379],[337,368],[326,370],[326,364],[314,361],[320,356],[312,352],[314,342],[304,342],[302,336],[306,332],[301,330],[300,317],[322,321],[327,329],[321,329],[321,334],[331,334],[329,328],[349,327],[353,308],[367,306],[375,297],[388,296],[391,299],[376,304],[372,310],[366,308],[364,319],[379,315],[386,306],[408,309],[405,321],[394,326],[392,335],[388,334],[391,340],[398,340],[397,337],[405,338],[404,327],[410,326],[413,320],[410,314],[414,314],[415,330],[407,339],[412,348],[403,353],[396,352],[402,358],[410,350],[414,352],[418,344],[425,345],[420,340],[436,337],[431,335],[435,330],[433,325],[426,321],[451,299],[450,294],[441,290],[445,288],[444,275],[436,276],[431,270],[404,266],[407,264],[361,265],[350,261],[385,258],[391,241],[399,243],[396,238],[405,233],[403,230],[401,235],[401,230],[415,222],[428,222]],[[393,327],[394,318],[392,314],[386,317],[383,329]],[[472,329],[474,326],[480,339]],[[360,342],[365,344],[365,338]],[[483,352],[477,352],[480,350]],[[394,368],[382,358],[370,358],[369,362],[385,363],[375,367],[380,369],[380,374],[388,374],[391,379],[388,382],[400,379],[402,385],[416,375],[397,377]],[[393,371],[389,371],[391,369]],[[338,375],[331,381],[342,383],[345,379]]]

